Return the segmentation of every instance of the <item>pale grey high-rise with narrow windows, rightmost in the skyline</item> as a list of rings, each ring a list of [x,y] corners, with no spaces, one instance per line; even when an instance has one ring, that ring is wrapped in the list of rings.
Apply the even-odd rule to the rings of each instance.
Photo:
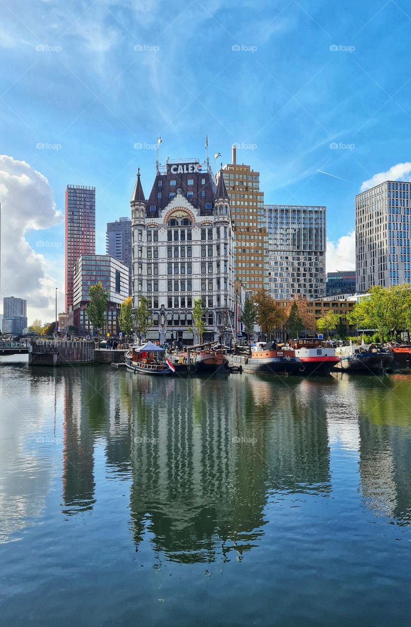
[[[411,183],[385,181],[355,197],[356,290],[410,283]]]

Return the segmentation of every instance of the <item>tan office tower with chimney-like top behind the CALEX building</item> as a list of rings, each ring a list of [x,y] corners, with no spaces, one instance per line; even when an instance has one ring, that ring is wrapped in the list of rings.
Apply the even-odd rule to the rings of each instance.
[[[223,167],[236,232],[234,273],[246,290],[268,288],[268,233],[264,219],[264,192],[260,175],[251,166],[237,164],[237,146],[232,163]]]

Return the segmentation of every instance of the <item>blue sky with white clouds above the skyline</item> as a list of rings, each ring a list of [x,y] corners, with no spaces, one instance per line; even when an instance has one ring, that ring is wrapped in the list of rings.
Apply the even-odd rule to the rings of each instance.
[[[265,202],[327,207],[327,271],[355,267],[355,194],[411,177],[405,0],[1,0],[1,296],[64,303],[67,184],[96,187],[96,252],[165,157],[221,152]],[[220,161],[220,159],[219,159]]]

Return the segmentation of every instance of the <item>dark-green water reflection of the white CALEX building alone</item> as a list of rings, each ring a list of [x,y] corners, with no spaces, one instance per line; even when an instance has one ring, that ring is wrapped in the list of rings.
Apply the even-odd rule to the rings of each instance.
[[[179,561],[213,561],[217,546],[251,548],[264,524],[264,441],[237,414],[227,379],[132,383],[137,545],[148,527],[156,548]]]

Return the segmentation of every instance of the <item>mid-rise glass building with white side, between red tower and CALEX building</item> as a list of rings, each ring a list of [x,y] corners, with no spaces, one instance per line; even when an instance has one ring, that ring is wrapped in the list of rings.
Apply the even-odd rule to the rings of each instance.
[[[100,283],[108,292],[105,333],[117,335],[120,305],[128,296],[128,268],[110,255],[80,255],[73,270],[73,306],[68,324],[74,325],[80,335],[91,334],[93,328],[87,318],[90,287]]]

